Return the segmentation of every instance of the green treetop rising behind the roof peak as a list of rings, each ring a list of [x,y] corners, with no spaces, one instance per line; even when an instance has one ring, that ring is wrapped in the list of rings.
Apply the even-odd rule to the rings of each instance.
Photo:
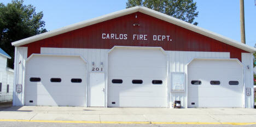
[[[193,0],[128,0],[126,2],[126,8],[137,5],[165,13],[194,25],[198,24],[194,22],[198,11],[196,11],[196,2],[193,2]]]

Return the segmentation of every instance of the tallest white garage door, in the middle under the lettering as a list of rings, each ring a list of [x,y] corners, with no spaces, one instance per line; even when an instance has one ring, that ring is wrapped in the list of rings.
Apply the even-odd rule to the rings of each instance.
[[[166,55],[115,48],[108,57],[109,107],[166,107]]]

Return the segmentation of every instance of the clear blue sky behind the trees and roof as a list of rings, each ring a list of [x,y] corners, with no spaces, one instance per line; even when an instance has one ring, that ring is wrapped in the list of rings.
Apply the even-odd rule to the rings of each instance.
[[[2,0],[4,4],[11,0]],[[239,0],[195,0],[197,3],[199,27],[241,41]],[[97,16],[125,9],[127,0],[25,0],[36,11],[43,11],[45,27],[48,31],[71,25]],[[256,5],[254,0],[245,0],[246,44],[256,44]]]

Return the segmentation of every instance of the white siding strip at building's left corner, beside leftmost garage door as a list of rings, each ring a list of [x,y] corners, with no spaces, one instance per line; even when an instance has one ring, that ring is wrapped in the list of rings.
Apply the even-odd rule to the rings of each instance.
[[[25,64],[27,59],[27,47],[15,47],[14,57],[14,85],[13,85],[13,105],[24,105],[24,84],[25,84]],[[16,92],[16,84],[22,84],[22,92]]]

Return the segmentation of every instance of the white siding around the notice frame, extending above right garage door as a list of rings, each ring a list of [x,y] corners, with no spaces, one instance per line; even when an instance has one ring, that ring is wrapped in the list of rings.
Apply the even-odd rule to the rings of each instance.
[[[169,59],[169,79],[172,72],[185,72],[186,65],[193,58],[230,58],[229,52],[187,52],[187,51],[166,51]],[[185,74],[187,77],[187,74]],[[171,83],[171,80],[169,80]],[[186,82],[185,82],[186,85]],[[169,84],[171,86],[171,84]],[[170,90],[170,89],[169,89]],[[170,92],[169,102],[181,101],[182,107],[187,107],[187,86],[184,92]],[[170,105],[171,106],[171,105]]]

